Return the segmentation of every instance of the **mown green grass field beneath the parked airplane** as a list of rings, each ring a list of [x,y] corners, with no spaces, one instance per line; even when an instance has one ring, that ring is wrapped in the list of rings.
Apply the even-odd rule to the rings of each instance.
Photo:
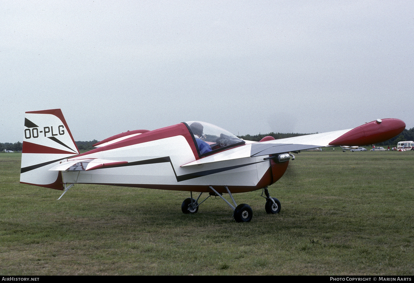
[[[195,215],[189,193],[19,183],[21,154],[0,154],[3,275],[412,275],[414,152],[301,152],[269,189],[220,199]],[[227,196],[226,196],[227,197]]]

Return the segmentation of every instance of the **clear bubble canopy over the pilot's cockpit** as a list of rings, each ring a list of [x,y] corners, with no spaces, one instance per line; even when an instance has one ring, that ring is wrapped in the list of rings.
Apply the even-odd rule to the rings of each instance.
[[[188,121],[184,122],[190,133],[193,135],[194,141],[199,138],[206,142],[212,151],[209,151],[200,156],[209,155],[212,152],[217,152],[226,148],[242,145],[244,140],[236,137],[229,131],[224,130],[216,125],[202,122],[202,121]],[[197,143],[195,142],[197,145]]]

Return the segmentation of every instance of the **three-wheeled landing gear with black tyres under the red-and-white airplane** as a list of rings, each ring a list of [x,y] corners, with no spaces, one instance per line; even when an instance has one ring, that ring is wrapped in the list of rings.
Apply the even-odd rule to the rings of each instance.
[[[246,205],[245,203],[242,203],[240,205],[236,204],[236,201],[234,201],[233,195],[231,195],[229,188],[225,186],[227,193],[229,193],[229,196],[231,197],[231,200],[233,201],[232,205],[230,202],[228,202],[224,197],[223,194],[218,193],[212,186],[209,186],[210,189],[213,191],[213,193],[209,193],[209,196],[206,197],[202,202],[198,203],[198,200],[200,199],[202,193],[198,195],[197,199],[193,199],[193,192],[190,192],[191,197],[186,198],[183,201],[183,204],[181,205],[181,211],[184,214],[195,214],[198,211],[198,207],[205,202],[210,196],[218,196],[221,197],[222,200],[224,200],[231,209],[233,209],[233,217],[236,222],[250,222],[253,217],[253,210],[249,205]],[[266,196],[263,196],[263,193],[265,193]],[[280,202],[275,197],[270,197],[269,191],[266,188],[263,188],[262,190],[262,197],[266,199],[266,205],[265,210],[267,214],[276,214],[280,212]]]

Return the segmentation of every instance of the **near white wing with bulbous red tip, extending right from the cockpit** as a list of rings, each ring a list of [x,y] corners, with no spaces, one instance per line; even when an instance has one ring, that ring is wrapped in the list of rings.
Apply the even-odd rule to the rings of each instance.
[[[233,150],[209,155],[181,166],[193,166],[262,155],[275,155],[316,147],[369,145],[389,140],[399,135],[404,129],[405,123],[400,119],[377,119],[353,129],[250,143],[242,146],[243,148],[240,150],[236,150],[236,147]]]

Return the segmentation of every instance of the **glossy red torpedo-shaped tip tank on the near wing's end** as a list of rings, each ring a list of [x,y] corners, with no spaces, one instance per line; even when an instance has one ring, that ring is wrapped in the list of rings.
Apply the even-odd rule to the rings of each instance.
[[[343,134],[329,145],[369,145],[381,143],[399,135],[405,129],[404,121],[400,119],[376,120],[356,127]]]

